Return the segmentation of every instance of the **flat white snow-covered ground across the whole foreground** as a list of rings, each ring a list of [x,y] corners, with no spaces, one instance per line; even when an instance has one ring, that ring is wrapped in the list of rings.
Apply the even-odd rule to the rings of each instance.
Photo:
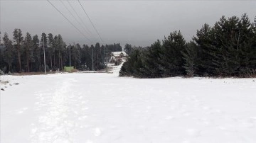
[[[256,142],[256,79],[1,79],[1,143]]]

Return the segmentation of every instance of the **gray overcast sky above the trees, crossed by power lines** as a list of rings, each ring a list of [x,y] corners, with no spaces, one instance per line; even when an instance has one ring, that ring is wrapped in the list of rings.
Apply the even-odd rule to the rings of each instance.
[[[79,42],[90,45],[48,1],[9,1],[1,2],[1,32],[12,37],[14,28],[20,28],[23,35],[53,33],[63,35],[67,43]],[[60,1],[51,1],[80,30],[81,26],[68,13]],[[256,1],[82,1],[105,43],[120,42],[121,45],[151,45],[162,40],[171,31],[181,30],[189,41],[196,35],[203,23],[211,26],[221,16],[242,16],[247,13],[250,20],[256,16]],[[70,8],[68,1],[63,1]],[[95,44],[100,38],[90,25],[78,1],[70,1],[92,34],[87,34]],[[79,20],[79,18],[77,18]],[[3,34],[2,34],[3,35]],[[100,42],[101,44],[103,42]]]

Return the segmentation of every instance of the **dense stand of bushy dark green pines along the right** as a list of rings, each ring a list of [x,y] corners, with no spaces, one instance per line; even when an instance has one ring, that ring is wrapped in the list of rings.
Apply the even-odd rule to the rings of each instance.
[[[256,17],[222,16],[213,27],[207,23],[190,42],[181,31],[149,47],[133,49],[119,76],[158,78],[169,76],[256,75]]]

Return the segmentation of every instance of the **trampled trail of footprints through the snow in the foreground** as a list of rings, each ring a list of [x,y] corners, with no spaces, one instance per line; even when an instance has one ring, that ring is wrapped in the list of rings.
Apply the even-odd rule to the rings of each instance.
[[[37,110],[40,112],[45,109],[46,112],[41,113],[36,124],[31,124],[31,142],[73,142],[70,135],[75,123],[68,119],[68,116],[73,114],[68,100],[72,81],[74,82],[72,79],[65,79],[62,84],[56,86],[57,89],[53,93],[41,91],[42,93],[38,94],[40,101],[36,103]]]

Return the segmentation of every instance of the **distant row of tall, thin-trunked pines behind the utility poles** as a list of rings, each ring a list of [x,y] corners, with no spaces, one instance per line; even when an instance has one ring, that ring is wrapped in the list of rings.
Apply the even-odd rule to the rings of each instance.
[[[122,51],[119,43],[110,45],[67,45],[61,35],[42,33],[25,37],[21,29],[15,29],[13,38],[4,33],[0,42],[0,69],[5,73],[44,71],[44,51],[46,56],[46,71],[62,70],[71,66],[80,70],[100,70],[105,68],[107,58],[114,51]],[[43,48],[44,47],[44,48]],[[71,57],[71,60],[69,58]],[[92,65],[93,58],[93,65]],[[92,69],[93,67],[93,69]]]

